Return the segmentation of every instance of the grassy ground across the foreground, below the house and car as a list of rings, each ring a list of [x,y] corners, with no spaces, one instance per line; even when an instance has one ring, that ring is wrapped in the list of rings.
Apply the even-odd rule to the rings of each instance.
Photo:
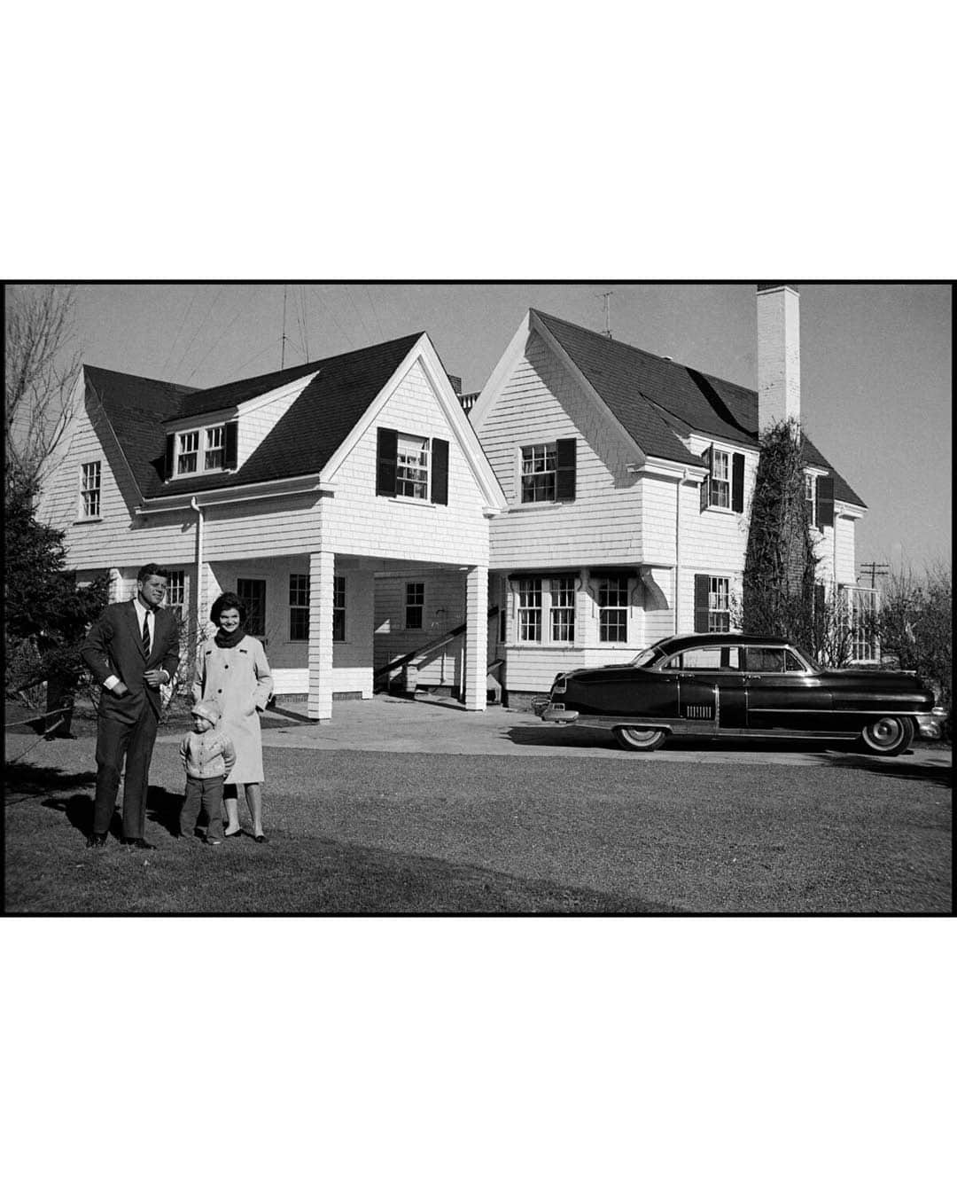
[[[8,760],[26,747],[12,737]],[[157,745],[141,853],[89,851],[93,741],[7,765],[6,910],[51,913],[944,913],[950,770],[266,748],[270,841],[171,838]],[[242,804],[240,804],[242,809]],[[245,819],[245,812],[243,812]]]

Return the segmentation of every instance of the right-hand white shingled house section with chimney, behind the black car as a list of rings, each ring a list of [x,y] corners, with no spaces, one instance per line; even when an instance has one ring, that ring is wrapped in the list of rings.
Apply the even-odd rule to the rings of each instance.
[[[510,701],[560,669],[730,628],[758,431],[800,417],[798,304],[792,286],[758,287],[758,391],[528,312],[470,412],[508,503],[490,651]],[[853,591],[865,505],[810,440],[805,464],[819,582]]]

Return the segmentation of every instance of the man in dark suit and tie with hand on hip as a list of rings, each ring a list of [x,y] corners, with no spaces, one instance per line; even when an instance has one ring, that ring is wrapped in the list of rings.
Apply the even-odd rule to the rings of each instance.
[[[151,561],[136,577],[136,595],[111,603],[84,640],[85,664],[103,686],[97,722],[97,796],[87,847],[102,847],[116,806],[123,757],[123,843],[154,847],[144,838],[150,761],[161,707],[160,686],[172,681],[179,664],[179,627],[173,612],[161,608],[166,571]]]

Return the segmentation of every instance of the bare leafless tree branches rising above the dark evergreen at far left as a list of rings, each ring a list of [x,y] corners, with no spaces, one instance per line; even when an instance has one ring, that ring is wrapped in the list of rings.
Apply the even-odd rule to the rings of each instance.
[[[7,287],[5,363],[5,468],[38,484],[72,415],[80,367],[72,351],[73,287]]]

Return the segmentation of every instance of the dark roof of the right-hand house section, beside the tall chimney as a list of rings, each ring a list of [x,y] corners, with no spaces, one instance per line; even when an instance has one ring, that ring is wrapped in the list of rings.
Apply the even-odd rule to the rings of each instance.
[[[645,452],[700,466],[701,460],[679,439],[689,432],[758,448],[757,391],[614,341],[535,308],[530,314],[557,341]],[[806,437],[804,457],[809,466],[834,475],[835,499],[865,506]]]

